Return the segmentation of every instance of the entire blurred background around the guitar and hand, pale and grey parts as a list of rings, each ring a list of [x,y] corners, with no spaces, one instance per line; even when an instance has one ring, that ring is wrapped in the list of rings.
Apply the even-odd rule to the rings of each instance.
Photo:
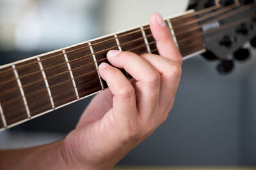
[[[170,17],[188,0],[0,0],[0,65]],[[249,46],[249,45],[246,45]],[[253,57],[254,56],[254,57]],[[201,56],[184,61],[166,122],[119,165],[256,166],[256,53],[225,76]],[[92,97],[0,132],[0,148],[65,138]]]

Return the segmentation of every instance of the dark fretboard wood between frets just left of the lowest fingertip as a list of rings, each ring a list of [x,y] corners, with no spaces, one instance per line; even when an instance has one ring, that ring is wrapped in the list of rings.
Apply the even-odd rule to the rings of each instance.
[[[67,48],[67,57],[76,82],[79,97],[101,90],[100,80],[88,43]]]

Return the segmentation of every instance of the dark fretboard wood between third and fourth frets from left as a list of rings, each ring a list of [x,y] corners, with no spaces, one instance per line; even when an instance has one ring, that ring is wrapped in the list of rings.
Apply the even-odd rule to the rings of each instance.
[[[52,57],[58,55],[56,57]],[[54,106],[76,100],[76,92],[68,72],[67,63],[62,51],[40,57],[49,83]],[[56,66],[58,65],[58,66]]]

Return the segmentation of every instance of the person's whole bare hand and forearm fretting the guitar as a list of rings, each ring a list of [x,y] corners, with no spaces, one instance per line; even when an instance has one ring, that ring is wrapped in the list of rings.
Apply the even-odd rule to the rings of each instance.
[[[56,143],[0,152],[0,169],[110,169],[148,138],[168,117],[179,86],[182,57],[163,18],[154,13],[150,29],[160,55],[108,52],[115,67],[102,63],[109,89],[93,98],[76,129]]]

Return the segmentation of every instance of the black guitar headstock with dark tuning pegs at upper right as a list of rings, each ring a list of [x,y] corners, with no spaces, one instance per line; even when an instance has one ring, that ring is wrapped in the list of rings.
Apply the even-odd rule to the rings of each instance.
[[[220,60],[219,73],[229,73],[234,62],[248,60],[252,52],[250,46],[256,44],[256,3],[253,0],[201,0],[191,1],[189,8],[202,10],[198,18],[209,16],[200,21],[207,60]],[[246,44],[250,43],[248,48]]]

